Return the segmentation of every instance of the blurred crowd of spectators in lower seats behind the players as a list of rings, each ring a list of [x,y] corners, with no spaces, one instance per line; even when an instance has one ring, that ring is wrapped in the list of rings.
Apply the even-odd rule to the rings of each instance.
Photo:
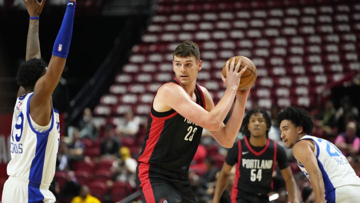
[[[284,146],[275,119],[279,110],[274,106],[269,111],[272,126],[268,136]],[[327,101],[322,109],[313,109],[310,114],[314,122],[312,135],[333,142],[360,175],[359,112],[350,98],[341,98],[338,108],[332,101]],[[141,196],[136,192],[135,171],[145,132],[146,122],[141,122],[132,111],[126,112],[116,125],[98,126],[93,122],[91,110],[84,109],[78,125],[68,127],[67,136],[61,138],[52,187],[58,202],[81,202],[81,199],[85,202],[87,198],[91,199],[88,202],[97,202],[96,199],[98,202],[121,199],[141,202]],[[237,139],[242,138],[239,133]],[[298,186],[299,199],[314,202],[311,185],[298,169],[291,149],[285,148],[285,151]],[[216,176],[226,153],[227,149],[219,146],[204,130],[189,170],[198,202],[211,202]],[[220,202],[230,202],[232,184],[230,176]],[[279,169],[273,173],[273,192],[269,196],[271,202],[287,202]]]

